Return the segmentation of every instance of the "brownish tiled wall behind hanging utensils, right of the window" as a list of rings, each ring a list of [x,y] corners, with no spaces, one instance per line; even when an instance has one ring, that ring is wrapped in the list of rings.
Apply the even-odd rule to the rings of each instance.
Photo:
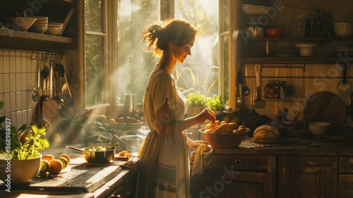
[[[266,65],[265,65],[266,66]],[[277,65],[281,66],[281,65]],[[278,68],[266,68],[261,71],[263,76],[275,76],[274,80],[284,80],[283,78],[277,78],[276,76],[283,75],[284,73]],[[304,106],[305,98],[307,99],[311,94],[320,91],[328,91],[337,94],[337,83],[342,80],[342,66],[336,66],[335,64],[306,64],[304,75],[302,75],[301,69],[291,70],[288,75],[287,80],[292,80],[294,85],[297,87],[297,92],[300,95],[297,98],[300,98],[301,101],[280,101],[280,100],[265,100],[265,108],[255,109],[256,112],[269,116],[273,120],[277,120],[276,115],[280,109],[294,108],[298,111],[301,111],[299,116],[300,120],[304,120]],[[293,78],[294,77],[294,78]],[[347,81],[353,83],[353,70],[347,69]],[[262,78],[262,95],[263,87],[271,78]],[[286,80],[286,81],[287,81]],[[245,85],[251,90],[249,96],[244,97],[246,101],[246,106],[249,109],[252,108],[252,101],[256,99],[256,78],[255,72],[253,71],[253,65],[249,64],[245,66]],[[302,94],[300,93],[302,89]]]

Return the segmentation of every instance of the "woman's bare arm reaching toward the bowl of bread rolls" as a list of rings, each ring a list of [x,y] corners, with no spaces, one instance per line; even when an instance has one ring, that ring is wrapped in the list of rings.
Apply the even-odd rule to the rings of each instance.
[[[186,118],[184,120],[172,120],[172,111],[169,109],[167,101],[155,113],[155,127],[158,135],[173,135],[176,132],[182,132],[191,126],[198,123],[203,123],[205,120],[210,120],[215,123],[215,113],[210,109],[204,109],[196,116]]]

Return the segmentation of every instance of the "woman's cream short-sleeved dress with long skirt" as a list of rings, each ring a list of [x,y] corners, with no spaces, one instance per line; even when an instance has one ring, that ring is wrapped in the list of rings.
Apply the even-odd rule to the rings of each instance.
[[[168,99],[173,120],[183,120],[186,99],[167,70],[155,68],[145,90],[143,113],[151,132],[140,147],[136,197],[190,197],[186,132],[160,137],[155,112]]]

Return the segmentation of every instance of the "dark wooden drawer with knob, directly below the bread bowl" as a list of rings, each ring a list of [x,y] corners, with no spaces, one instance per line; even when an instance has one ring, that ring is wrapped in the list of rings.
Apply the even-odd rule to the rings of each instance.
[[[268,170],[269,156],[214,155],[211,168],[234,167],[236,170]]]

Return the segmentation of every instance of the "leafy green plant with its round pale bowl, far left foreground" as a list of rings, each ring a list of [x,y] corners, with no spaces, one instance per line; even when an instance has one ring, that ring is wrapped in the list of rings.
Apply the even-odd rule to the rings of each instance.
[[[0,109],[3,106],[0,101]],[[49,141],[42,137],[45,132],[45,127],[37,128],[35,124],[16,129],[11,119],[0,117],[0,179],[5,185],[28,183],[40,172],[39,151],[49,147]]]

